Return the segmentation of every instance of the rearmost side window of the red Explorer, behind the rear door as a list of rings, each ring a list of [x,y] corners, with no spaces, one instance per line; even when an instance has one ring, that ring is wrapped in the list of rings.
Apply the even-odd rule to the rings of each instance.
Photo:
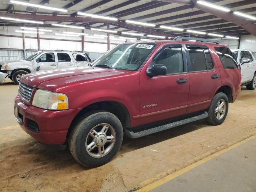
[[[226,47],[214,47],[224,69],[236,69],[239,65],[234,54]]]

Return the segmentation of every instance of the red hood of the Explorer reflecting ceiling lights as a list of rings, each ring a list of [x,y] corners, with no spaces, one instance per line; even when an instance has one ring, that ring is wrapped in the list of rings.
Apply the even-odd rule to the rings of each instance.
[[[127,72],[129,71],[97,67],[66,68],[28,74],[22,78],[21,82],[34,88],[52,90],[64,84],[114,76]]]

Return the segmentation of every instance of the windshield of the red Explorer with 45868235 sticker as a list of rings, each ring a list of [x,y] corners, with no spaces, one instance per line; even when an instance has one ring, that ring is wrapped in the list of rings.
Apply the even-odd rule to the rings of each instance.
[[[121,70],[138,70],[155,44],[120,44],[115,46],[92,63],[92,66]]]

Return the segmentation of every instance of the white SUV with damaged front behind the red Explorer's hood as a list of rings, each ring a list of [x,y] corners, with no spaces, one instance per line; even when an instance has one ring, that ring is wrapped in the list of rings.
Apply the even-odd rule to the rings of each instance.
[[[8,76],[16,85],[22,76],[45,70],[88,66],[88,54],[77,51],[38,51],[24,60],[0,62],[0,83]]]

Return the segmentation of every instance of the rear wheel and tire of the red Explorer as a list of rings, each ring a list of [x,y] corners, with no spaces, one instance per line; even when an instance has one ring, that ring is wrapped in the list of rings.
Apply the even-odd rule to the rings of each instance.
[[[222,106],[222,108],[220,108],[219,106],[222,105],[222,102],[224,102],[224,105]],[[219,109],[218,112],[216,112],[217,108]],[[225,111],[224,114],[223,110]],[[217,93],[216,95],[214,95],[208,110],[208,114],[209,116],[208,118],[206,118],[206,121],[208,123],[212,125],[220,125],[224,122],[228,114],[228,97],[226,96],[226,94]],[[218,116],[218,114],[220,115]]]

